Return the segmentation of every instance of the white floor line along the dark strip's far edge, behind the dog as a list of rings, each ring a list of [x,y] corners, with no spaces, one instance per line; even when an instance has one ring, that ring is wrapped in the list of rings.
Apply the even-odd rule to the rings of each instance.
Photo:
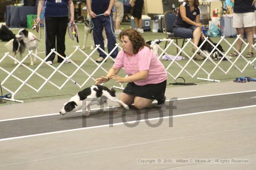
[[[238,92],[231,92],[231,93],[224,93],[224,94],[212,94],[212,95],[206,95],[206,96],[187,97],[187,98],[181,98],[181,99],[177,99],[177,100],[179,101],[179,100],[186,100],[186,99],[197,99],[197,98],[203,98],[203,97],[221,96],[221,95],[228,95],[228,94],[239,94],[239,93],[247,93],[247,92],[255,92],[255,91],[256,90],[238,91]],[[175,101],[175,100],[166,100],[166,102],[169,102],[169,101]],[[156,103],[156,102],[157,101],[154,101],[153,103]],[[119,108],[119,106],[116,106],[113,108]],[[99,108],[91,109],[91,111],[94,111],[97,109],[99,109]],[[81,110],[76,111],[76,112],[81,112]],[[54,116],[54,115],[58,115],[58,114],[60,114],[60,113],[43,114],[43,115],[37,115],[37,116],[27,116],[27,117],[12,118],[12,119],[3,119],[3,120],[0,120],[0,122],[11,121],[11,120],[20,120],[20,119],[30,119],[30,118],[44,117],[44,116]]]

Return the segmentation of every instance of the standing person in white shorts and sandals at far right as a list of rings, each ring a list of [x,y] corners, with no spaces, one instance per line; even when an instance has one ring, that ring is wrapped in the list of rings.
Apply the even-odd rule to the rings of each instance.
[[[253,57],[253,27],[256,26],[256,17],[254,13],[253,0],[235,0],[234,14],[233,14],[233,27],[236,28],[237,34],[241,35],[244,39],[244,31],[247,34],[247,41],[249,42],[249,52],[246,57]],[[243,42],[237,40],[236,50],[241,52]],[[238,56],[234,51],[230,56]]]

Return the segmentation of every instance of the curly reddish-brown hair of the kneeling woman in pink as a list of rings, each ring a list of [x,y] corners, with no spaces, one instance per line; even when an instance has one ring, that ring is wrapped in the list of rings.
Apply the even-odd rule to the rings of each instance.
[[[145,40],[140,32],[134,28],[129,28],[122,31],[118,36],[119,40],[121,40],[121,38],[124,36],[128,36],[129,40],[131,41],[134,54],[137,54],[144,46],[150,48],[150,46],[145,43]]]

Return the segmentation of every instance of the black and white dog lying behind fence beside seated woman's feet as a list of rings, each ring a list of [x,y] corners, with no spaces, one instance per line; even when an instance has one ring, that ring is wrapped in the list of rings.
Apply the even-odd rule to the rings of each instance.
[[[217,45],[217,43],[213,42],[210,37],[208,37],[209,42],[211,42],[213,45]],[[204,42],[204,39],[199,40],[198,42],[198,47]],[[204,51],[205,54],[209,55],[209,53],[212,51],[212,49],[214,48],[208,41],[204,42],[204,45],[201,47],[201,50]],[[217,46],[218,50],[221,51],[222,53],[224,53],[224,50],[222,48],[222,46],[219,44]],[[223,55],[217,50],[217,48],[213,51],[211,58],[215,59],[215,60],[220,60]],[[226,56],[229,59],[232,59],[232,57],[230,56]],[[223,60],[227,60],[227,58],[224,57]]]

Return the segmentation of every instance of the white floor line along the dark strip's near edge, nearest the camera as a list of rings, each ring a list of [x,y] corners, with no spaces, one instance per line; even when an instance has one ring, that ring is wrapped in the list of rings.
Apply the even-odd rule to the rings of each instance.
[[[130,124],[130,123],[135,123],[135,122],[145,122],[145,121],[150,121],[150,120],[168,119],[168,118],[171,118],[171,117],[190,116],[190,115],[196,115],[196,114],[214,113],[214,112],[219,112],[219,111],[231,111],[231,110],[236,110],[236,109],[253,108],[253,107],[256,107],[256,105],[243,106],[243,107],[237,107],[237,108],[219,109],[219,110],[213,110],[213,111],[203,111],[203,112],[187,113],[187,114],[180,114],[180,115],[175,115],[175,116],[157,117],[157,118],[152,118],[152,119],[141,119],[141,120],[134,120],[134,121],[130,121],[130,122],[120,122],[120,123],[114,123],[114,124],[108,124],[108,125],[99,125],[99,126],[92,126],[92,127],[82,127],[82,128],[77,128],[77,129],[61,130],[61,131],[48,132],[48,133],[38,133],[38,134],[34,134],[34,135],[26,135],[26,136],[12,137],[12,138],[4,138],[4,139],[0,139],[0,142],[1,141],[12,140],[12,139],[28,138],[28,137],[33,137],[33,136],[42,136],[42,135],[49,135],[49,134],[55,134],[55,133],[72,132],[72,131],[77,131],[77,130],[86,130],[86,129],[93,129],[93,128],[99,128],[99,127],[107,127],[107,126],[110,126],[110,125],[111,126],[124,125],[124,124]]]

